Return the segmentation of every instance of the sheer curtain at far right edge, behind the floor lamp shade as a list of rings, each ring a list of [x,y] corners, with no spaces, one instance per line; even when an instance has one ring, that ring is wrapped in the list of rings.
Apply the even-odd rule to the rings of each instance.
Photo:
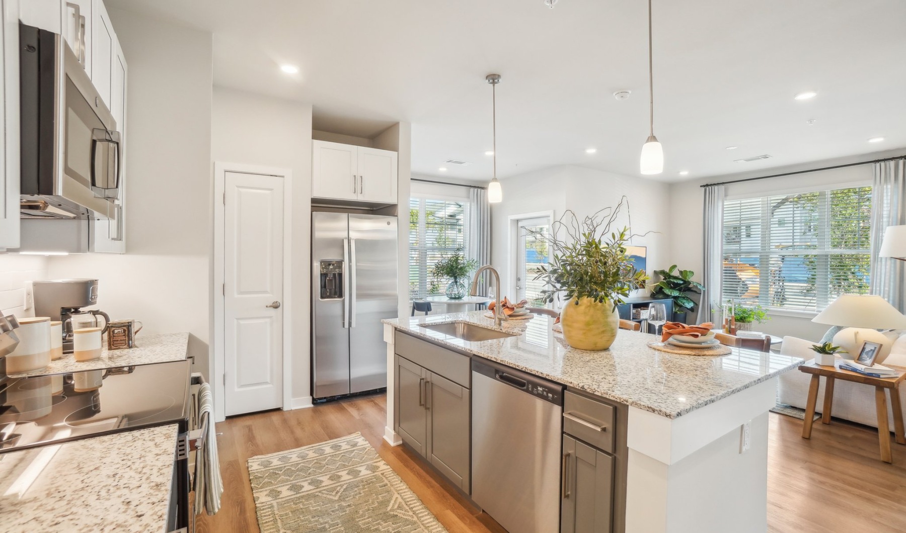
[[[906,262],[878,257],[887,226],[906,224],[906,159],[874,164],[872,184],[872,294],[906,313]]]

